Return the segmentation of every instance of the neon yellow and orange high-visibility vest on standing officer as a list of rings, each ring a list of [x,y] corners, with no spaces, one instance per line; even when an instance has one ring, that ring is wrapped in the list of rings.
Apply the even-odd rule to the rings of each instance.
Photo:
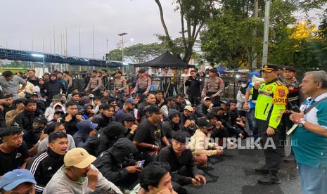
[[[258,90],[255,105],[255,118],[269,122],[276,129],[286,110],[288,89],[280,81],[262,83]]]

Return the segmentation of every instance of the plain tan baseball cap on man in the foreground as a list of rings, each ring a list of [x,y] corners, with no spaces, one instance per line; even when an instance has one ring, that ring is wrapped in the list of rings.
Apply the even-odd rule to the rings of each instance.
[[[84,148],[72,148],[65,154],[63,162],[66,167],[77,167],[84,169],[96,160],[96,157],[89,155]]]

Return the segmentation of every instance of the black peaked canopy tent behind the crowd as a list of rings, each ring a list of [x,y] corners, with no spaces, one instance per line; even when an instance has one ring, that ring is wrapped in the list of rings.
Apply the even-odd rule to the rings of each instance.
[[[177,56],[173,56],[168,51],[163,53],[158,58],[150,60],[146,63],[134,64],[134,67],[171,67],[171,68],[184,68],[184,67],[195,67],[194,65],[188,65],[183,60],[179,59]]]

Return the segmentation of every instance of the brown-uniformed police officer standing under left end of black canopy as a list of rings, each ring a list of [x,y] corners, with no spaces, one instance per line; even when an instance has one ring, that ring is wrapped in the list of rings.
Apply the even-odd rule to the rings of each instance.
[[[150,79],[150,77],[146,76],[145,69],[139,70],[138,77],[139,78],[137,79],[136,85],[131,94],[138,93],[141,96],[141,99],[143,99],[143,96],[146,96],[150,91],[151,79]]]

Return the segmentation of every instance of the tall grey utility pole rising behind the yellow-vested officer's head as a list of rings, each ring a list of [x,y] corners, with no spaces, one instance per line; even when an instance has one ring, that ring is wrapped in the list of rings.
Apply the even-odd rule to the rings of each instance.
[[[262,49],[262,66],[268,63],[269,14],[270,0],[266,0],[266,5],[264,8],[264,44]]]

